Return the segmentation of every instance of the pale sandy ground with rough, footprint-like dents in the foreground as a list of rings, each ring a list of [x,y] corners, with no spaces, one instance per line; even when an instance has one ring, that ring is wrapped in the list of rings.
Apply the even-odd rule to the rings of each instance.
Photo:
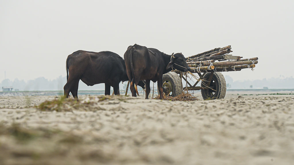
[[[294,96],[237,93],[0,97],[0,164],[293,164]]]

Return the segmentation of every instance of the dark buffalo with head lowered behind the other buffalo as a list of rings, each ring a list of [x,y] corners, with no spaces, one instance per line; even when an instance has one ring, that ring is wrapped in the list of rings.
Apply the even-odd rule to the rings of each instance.
[[[110,95],[110,86],[114,94],[119,95],[119,83],[128,80],[125,61],[110,51],[96,53],[78,50],[67,57],[66,73],[65,97],[69,97],[71,92],[74,98],[78,98],[80,80],[88,86],[105,83],[105,95]],[[142,81],[138,85],[145,88]]]

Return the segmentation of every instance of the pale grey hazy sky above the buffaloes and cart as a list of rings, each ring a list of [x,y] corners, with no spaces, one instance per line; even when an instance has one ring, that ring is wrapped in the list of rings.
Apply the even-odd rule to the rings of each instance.
[[[76,50],[123,56],[137,43],[186,57],[231,45],[258,57],[234,80],[293,76],[294,1],[3,1],[0,82],[66,75]],[[288,61],[291,63],[288,63]]]

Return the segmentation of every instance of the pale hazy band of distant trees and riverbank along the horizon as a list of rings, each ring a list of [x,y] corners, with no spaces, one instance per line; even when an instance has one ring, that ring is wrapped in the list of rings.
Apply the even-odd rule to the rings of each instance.
[[[262,80],[234,81],[233,78],[226,75],[225,80],[228,89],[262,89],[263,87],[268,87],[269,89],[294,89],[294,78],[292,76],[288,78],[264,78]],[[39,77],[34,80],[29,80],[27,82],[18,79],[15,79],[13,81],[5,79],[0,83],[0,89],[3,86],[13,86],[14,90],[19,89],[20,91],[63,90],[63,86],[65,85],[65,83],[65,76],[59,76],[54,80],[48,80],[44,77]],[[120,83],[120,90],[125,90],[126,85],[127,81],[123,84]],[[150,86],[151,89],[153,89],[153,82],[151,82]],[[183,86],[186,86],[186,84],[183,83]],[[80,81],[79,90],[104,90],[104,84],[87,86],[82,81]],[[140,88],[138,90],[141,91],[142,89]],[[157,91],[157,83],[154,84],[154,90]]]

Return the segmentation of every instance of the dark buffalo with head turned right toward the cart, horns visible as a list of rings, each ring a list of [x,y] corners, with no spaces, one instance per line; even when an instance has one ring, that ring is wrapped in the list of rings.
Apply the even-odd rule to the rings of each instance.
[[[131,82],[132,96],[138,94],[137,85],[140,80],[146,81],[146,99],[150,93],[150,80],[157,81],[160,98],[163,99],[162,75],[172,68],[187,72],[191,70],[182,53],[167,55],[154,48],[133,45],[124,54],[126,70]]]

